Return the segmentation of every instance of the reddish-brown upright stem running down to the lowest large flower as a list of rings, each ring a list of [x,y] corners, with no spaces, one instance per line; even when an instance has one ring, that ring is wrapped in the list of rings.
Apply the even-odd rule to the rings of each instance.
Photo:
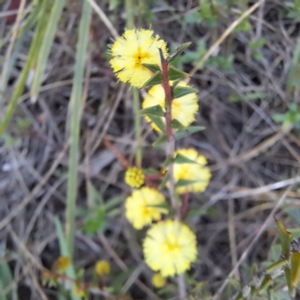
[[[173,93],[172,88],[169,82],[168,70],[169,70],[169,62],[164,58],[163,52],[159,49],[160,60],[161,60],[161,68],[162,68],[162,87],[165,91],[166,96],[166,136],[167,136],[167,156],[171,158],[171,162],[168,166],[168,174],[169,174],[169,193],[171,197],[171,204],[176,212],[176,218],[180,219],[180,206],[177,203],[175,197],[175,180],[173,174],[173,158],[175,151],[175,138],[173,134],[173,129],[171,126],[172,122],[172,101],[173,101]]]

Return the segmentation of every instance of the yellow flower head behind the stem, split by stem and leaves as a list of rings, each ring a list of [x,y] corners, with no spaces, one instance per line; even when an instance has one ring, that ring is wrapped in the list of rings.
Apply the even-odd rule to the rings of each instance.
[[[181,81],[178,86],[188,87],[188,85]],[[160,105],[165,111],[165,93],[161,85],[153,86],[146,95],[143,101],[143,109],[151,106]],[[195,114],[199,109],[198,99],[196,93],[191,93],[180,98],[175,98],[172,101],[172,119],[177,119],[184,127],[189,126],[195,121]],[[163,121],[164,118],[162,118]],[[149,117],[146,117],[147,122],[151,122]],[[151,122],[151,126],[160,131],[160,129]]]

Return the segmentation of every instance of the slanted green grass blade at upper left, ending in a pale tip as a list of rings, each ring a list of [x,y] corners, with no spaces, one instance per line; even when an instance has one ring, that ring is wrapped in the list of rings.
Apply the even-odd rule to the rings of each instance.
[[[39,94],[43,81],[43,74],[65,2],[65,0],[54,1],[49,19],[47,20],[47,27],[43,36],[41,47],[39,49],[37,65],[30,90],[32,101],[35,101]]]

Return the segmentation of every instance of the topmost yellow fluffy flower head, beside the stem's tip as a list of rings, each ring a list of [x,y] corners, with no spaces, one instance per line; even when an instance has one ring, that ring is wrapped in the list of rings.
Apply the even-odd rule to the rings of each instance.
[[[142,87],[152,76],[142,64],[160,66],[159,48],[166,57],[166,42],[154,35],[153,30],[128,29],[112,45],[110,64],[119,80]]]

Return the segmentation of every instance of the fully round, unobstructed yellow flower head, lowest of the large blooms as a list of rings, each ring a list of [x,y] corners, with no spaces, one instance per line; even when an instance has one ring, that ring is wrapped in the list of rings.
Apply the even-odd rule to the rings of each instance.
[[[179,221],[166,220],[153,225],[143,244],[147,265],[163,277],[188,270],[196,260],[196,236]]]

